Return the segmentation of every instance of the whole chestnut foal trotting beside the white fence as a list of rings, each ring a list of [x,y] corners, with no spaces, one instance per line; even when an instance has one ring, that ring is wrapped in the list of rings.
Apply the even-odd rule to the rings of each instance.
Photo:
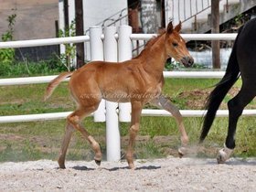
[[[130,140],[126,153],[130,168],[134,168],[133,145],[139,131],[141,112],[147,102],[173,114],[181,133],[181,143],[187,144],[188,137],[180,112],[161,94],[166,59],[174,58],[186,67],[193,64],[185,40],[179,35],[180,29],[181,24],[173,27],[170,22],[166,32],[150,40],[138,57],[122,63],[92,61],[78,70],[61,73],[48,84],[45,99],[48,99],[61,80],[70,77],[69,90],[78,104],[77,110],[67,118],[66,132],[58,160],[60,168],[65,168],[65,156],[74,130],[78,130],[89,141],[95,153],[96,164],[101,164],[100,145],[81,125],[84,117],[97,110],[101,99],[132,104]]]

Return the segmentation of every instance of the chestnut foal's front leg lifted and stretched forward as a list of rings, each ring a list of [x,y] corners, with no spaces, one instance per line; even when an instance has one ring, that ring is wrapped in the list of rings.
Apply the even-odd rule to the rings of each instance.
[[[182,115],[179,112],[179,110],[176,108],[176,106],[171,101],[166,99],[163,95],[160,95],[155,100],[150,101],[150,103],[154,104],[157,107],[163,108],[167,112],[172,113],[172,115],[176,118],[176,123],[179,129],[179,132],[181,133],[181,137],[180,137],[181,144],[183,146],[186,146],[188,143],[188,136],[185,130]],[[180,155],[184,155],[185,152],[183,152],[183,149],[184,149],[183,147],[179,149]]]

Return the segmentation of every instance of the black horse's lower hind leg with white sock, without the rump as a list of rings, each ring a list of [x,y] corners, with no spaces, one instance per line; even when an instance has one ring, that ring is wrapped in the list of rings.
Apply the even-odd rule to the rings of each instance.
[[[244,83],[240,92],[228,102],[229,107],[229,131],[224,144],[224,148],[219,150],[219,155],[217,161],[219,164],[224,163],[229,159],[229,156],[232,154],[236,144],[235,144],[235,133],[237,129],[237,123],[240,118],[240,115],[245,108],[245,106],[251,102],[255,97],[256,91],[252,86]],[[252,86],[252,87],[251,87]],[[253,89],[252,89],[253,88]]]

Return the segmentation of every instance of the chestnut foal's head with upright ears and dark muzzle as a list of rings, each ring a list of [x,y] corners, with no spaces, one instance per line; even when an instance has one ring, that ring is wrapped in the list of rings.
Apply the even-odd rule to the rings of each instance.
[[[168,24],[165,33],[165,51],[168,58],[174,58],[185,67],[190,67],[193,65],[194,59],[187,50],[185,40],[179,35],[180,30],[180,22],[176,27],[173,27],[172,22]]]

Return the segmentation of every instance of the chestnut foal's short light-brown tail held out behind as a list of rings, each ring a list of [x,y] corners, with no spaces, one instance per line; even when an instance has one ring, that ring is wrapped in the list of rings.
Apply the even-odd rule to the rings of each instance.
[[[44,101],[46,101],[51,96],[52,92],[57,88],[57,86],[59,85],[59,83],[62,80],[65,80],[66,78],[69,78],[72,74],[73,74],[72,71],[71,72],[63,72],[57,78],[55,78],[54,80],[51,80],[48,83],[48,88],[47,88],[47,91],[45,93]]]

